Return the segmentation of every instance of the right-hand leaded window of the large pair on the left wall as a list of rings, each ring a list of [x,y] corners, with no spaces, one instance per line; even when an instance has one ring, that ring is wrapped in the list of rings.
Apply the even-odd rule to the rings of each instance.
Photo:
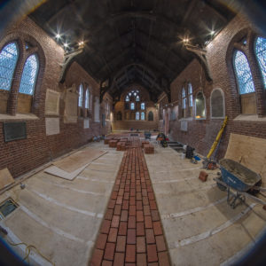
[[[35,82],[39,69],[39,61],[35,54],[27,58],[23,67],[20,80],[20,93],[33,95],[35,91]]]

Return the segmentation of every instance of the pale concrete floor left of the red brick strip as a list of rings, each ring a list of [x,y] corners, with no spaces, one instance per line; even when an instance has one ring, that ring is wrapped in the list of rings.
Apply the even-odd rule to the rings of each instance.
[[[0,223],[9,231],[14,243],[32,244],[56,265],[86,265],[97,237],[123,153],[103,143],[90,146],[108,151],[94,160],[74,181],[43,171],[20,186],[0,196],[8,197],[20,207]],[[25,246],[17,251],[25,256]],[[34,249],[33,249],[34,251]],[[36,252],[30,262],[50,265]]]

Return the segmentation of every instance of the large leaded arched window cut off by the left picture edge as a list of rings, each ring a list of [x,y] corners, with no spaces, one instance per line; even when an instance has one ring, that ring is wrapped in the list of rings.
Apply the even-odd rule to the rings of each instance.
[[[8,43],[0,53],[0,90],[10,90],[14,70],[19,58],[16,43]]]

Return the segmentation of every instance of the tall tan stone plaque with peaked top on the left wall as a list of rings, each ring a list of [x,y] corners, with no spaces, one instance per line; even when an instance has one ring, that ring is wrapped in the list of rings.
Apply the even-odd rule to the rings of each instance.
[[[77,103],[79,94],[75,90],[74,86],[66,90],[65,94],[65,123],[76,123],[77,122]]]

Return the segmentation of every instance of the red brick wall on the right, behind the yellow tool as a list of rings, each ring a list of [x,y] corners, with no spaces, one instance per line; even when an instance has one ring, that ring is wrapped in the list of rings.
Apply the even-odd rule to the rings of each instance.
[[[207,155],[223,122],[223,119],[219,120],[210,118],[210,95],[211,91],[215,88],[223,90],[225,96],[225,113],[229,116],[229,122],[223,136],[223,142],[221,143],[217,154],[218,158],[223,158],[223,155],[226,152],[230,133],[266,138],[265,120],[234,121],[234,119],[240,114],[240,104],[238,88],[231,65],[231,53],[233,51],[232,47],[236,40],[236,36],[239,38],[240,35],[244,36],[245,33],[248,32],[251,33],[251,35],[255,35],[254,27],[245,19],[236,17],[231,20],[231,23],[215,37],[215,40],[211,44],[207,46],[207,62],[210,66],[213,82],[206,81],[205,74],[200,67],[199,61],[194,59],[192,63],[176,77],[176,80],[171,83],[171,98],[173,102],[178,104],[179,113],[181,113],[180,98],[184,82],[192,82],[193,99],[195,99],[200,88],[203,88],[207,107],[207,119],[195,120],[195,110],[193,106],[193,118],[187,120],[187,132],[180,130],[180,115],[179,120],[170,121],[169,136],[172,139],[183,144],[192,145],[192,147],[196,148],[198,153]],[[248,60],[250,66],[253,67],[254,59],[249,57]],[[202,79],[200,82],[201,73]],[[262,82],[262,80],[259,74],[254,74],[254,82],[259,84],[257,85],[257,88],[260,89],[260,82]],[[266,103],[265,98],[264,103]],[[258,106],[257,111],[259,116],[263,115],[264,110],[265,105]]]

